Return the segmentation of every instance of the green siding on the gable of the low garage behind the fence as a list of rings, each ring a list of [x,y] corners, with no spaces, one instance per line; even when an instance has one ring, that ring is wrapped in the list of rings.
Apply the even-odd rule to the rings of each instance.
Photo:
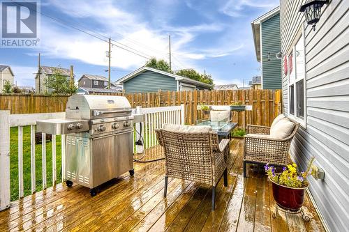
[[[159,89],[162,91],[177,91],[177,81],[174,77],[147,70],[124,82],[126,93],[149,93],[157,92]]]

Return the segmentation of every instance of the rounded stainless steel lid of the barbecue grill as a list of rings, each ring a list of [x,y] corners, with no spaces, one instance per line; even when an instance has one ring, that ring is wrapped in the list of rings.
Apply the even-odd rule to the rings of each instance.
[[[127,98],[111,95],[72,95],[66,105],[66,118],[93,119],[131,114]]]

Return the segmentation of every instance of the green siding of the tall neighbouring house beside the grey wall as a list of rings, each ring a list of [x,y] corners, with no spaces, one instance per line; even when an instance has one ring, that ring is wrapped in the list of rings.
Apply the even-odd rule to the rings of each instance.
[[[281,89],[281,52],[280,14],[262,22],[262,84],[265,89]],[[270,61],[268,61],[270,52]]]

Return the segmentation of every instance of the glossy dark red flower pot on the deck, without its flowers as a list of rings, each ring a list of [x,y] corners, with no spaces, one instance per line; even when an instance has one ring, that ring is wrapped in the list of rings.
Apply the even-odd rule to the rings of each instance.
[[[305,190],[308,186],[299,188],[287,187],[279,185],[271,179],[269,180],[272,182],[273,196],[278,206],[290,211],[297,211],[302,207]]]

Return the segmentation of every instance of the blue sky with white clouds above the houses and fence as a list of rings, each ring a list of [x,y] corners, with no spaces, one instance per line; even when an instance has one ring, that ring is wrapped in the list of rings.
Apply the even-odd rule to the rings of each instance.
[[[40,47],[0,48],[0,64],[11,65],[19,86],[34,86],[38,52],[41,65],[74,65],[75,75],[107,76],[107,43],[66,25],[111,37],[146,56],[168,60],[172,69],[195,68],[211,74],[215,84],[242,86],[260,75],[251,22],[279,5],[278,0],[42,0]],[[144,65],[147,59],[112,47],[112,80]]]

